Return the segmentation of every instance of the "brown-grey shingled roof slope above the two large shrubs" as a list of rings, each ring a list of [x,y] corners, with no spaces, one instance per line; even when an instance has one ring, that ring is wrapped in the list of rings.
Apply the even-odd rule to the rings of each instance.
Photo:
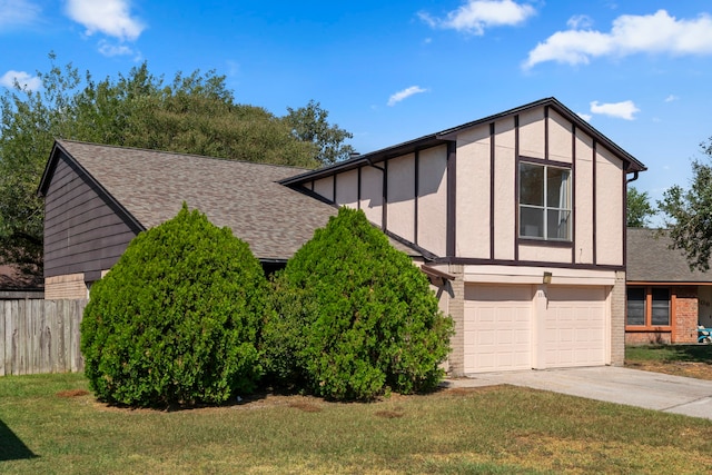
[[[40,182],[41,196],[47,194],[60,156],[86,174],[134,228],[145,230],[174,218],[185,201],[214,225],[230,228],[263,261],[287,260],[338,211],[279,184],[304,168],[71,140],[55,142]]]

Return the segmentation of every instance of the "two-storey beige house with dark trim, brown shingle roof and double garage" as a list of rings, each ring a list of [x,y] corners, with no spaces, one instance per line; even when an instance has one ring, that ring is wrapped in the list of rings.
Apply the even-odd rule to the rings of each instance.
[[[40,185],[47,294],[86,295],[182,201],[274,266],[348,206],[437,286],[452,375],[621,365],[626,180],[643,170],[554,98],[319,170],[57,141]]]

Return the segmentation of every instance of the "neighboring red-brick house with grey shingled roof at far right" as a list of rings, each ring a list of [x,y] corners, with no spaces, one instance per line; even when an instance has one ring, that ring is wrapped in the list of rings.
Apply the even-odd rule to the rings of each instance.
[[[626,344],[696,343],[712,327],[712,273],[690,270],[664,230],[627,229]]]

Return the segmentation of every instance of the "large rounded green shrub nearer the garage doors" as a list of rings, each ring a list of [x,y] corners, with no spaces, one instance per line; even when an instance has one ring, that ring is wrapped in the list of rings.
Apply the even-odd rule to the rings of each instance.
[[[268,375],[334,399],[434,388],[452,319],[427,278],[363,211],[342,208],[275,279]]]

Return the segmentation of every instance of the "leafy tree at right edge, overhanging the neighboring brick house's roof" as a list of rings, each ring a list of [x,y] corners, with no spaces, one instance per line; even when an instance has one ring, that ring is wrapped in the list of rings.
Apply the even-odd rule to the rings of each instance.
[[[668,189],[657,207],[666,215],[665,226],[674,249],[682,249],[690,269],[709,270],[712,253],[712,139],[703,152],[708,161],[692,160],[689,190],[679,185]]]

